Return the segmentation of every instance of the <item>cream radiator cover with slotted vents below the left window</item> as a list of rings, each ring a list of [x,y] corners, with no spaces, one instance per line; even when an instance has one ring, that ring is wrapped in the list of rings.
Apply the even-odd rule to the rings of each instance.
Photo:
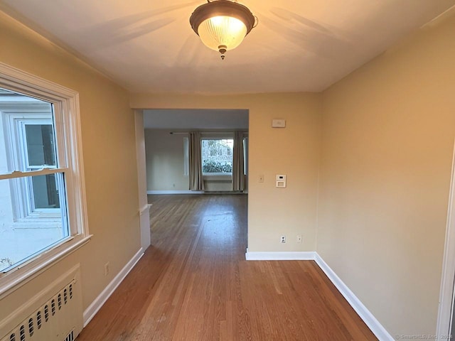
[[[0,341],[73,341],[81,330],[80,271],[75,266],[2,321]]]

